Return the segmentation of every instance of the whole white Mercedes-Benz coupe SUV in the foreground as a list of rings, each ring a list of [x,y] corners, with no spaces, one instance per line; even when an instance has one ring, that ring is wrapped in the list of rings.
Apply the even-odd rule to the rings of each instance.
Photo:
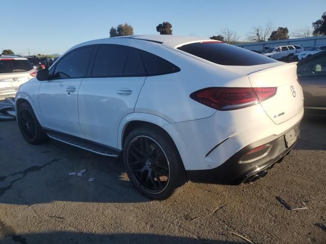
[[[132,184],[166,199],[188,180],[263,177],[300,135],[296,64],[193,37],[85,42],[20,86],[22,136],[122,156]]]

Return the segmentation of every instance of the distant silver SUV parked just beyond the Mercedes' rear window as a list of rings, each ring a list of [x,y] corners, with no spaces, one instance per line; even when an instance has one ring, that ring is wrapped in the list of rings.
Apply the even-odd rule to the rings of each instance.
[[[301,45],[286,45],[278,47],[270,47],[262,54],[277,60],[292,60],[293,55],[298,52],[303,52],[305,49]]]

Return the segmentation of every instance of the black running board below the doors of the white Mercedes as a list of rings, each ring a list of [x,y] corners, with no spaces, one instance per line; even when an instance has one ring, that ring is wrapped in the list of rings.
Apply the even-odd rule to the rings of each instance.
[[[45,129],[46,130],[46,129]],[[63,143],[82,148],[88,151],[92,151],[92,153],[108,156],[108,157],[119,157],[120,150],[111,148],[102,144],[98,144],[86,139],[78,138],[75,136],[70,136],[67,134],[63,134],[60,132],[49,131],[46,130],[46,134],[49,138],[61,141]]]

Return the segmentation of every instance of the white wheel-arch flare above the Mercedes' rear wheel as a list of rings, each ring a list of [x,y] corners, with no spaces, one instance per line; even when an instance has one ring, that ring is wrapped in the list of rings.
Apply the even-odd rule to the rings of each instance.
[[[126,116],[124,116],[121,119],[119,128],[118,128],[117,138],[118,138],[118,149],[120,149],[120,150],[122,150],[122,140],[123,140],[124,131],[125,131],[127,125],[131,121],[144,121],[144,122],[152,123],[159,127],[164,127],[164,126],[170,124],[164,118],[161,118],[157,115],[153,115],[150,113],[129,113],[129,114],[127,114]]]

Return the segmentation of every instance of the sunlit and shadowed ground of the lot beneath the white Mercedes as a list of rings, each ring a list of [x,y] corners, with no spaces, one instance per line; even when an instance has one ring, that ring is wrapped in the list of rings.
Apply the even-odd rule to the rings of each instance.
[[[53,140],[30,145],[15,121],[2,121],[0,243],[247,242],[236,234],[253,243],[326,243],[326,119],[305,118],[301,130],[262,180],[191,183],[159,202],[140,195],[119,162]],[[287,209],[302,202],[308,209]]]

